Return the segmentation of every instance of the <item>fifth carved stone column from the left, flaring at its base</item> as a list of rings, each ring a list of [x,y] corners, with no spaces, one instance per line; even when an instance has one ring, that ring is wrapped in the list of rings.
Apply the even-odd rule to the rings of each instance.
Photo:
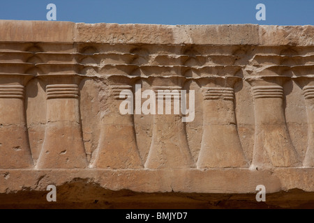
[[[202,77],[204,95],[202,145],[198,168],[248,167],[234,111],[234,83],[240,77]]]

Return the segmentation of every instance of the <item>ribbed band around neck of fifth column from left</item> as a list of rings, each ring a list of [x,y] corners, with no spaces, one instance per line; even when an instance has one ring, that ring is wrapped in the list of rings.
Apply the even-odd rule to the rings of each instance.
[[[234,100],[234,91],[232,88],[204,88],[204,100]]]

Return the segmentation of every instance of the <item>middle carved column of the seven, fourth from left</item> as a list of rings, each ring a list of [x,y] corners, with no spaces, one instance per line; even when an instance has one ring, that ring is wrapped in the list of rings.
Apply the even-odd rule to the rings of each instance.
[[[156,114],[154,114],[153,136],[149,155],[145,163],[147,169],[179,169],[195,167],[193,157],[188,148],[185,123],[182,115],[174,114],[174,105],[181,98],[183,77],[150,77],[151,86],[156,93]],[[169,86],[171,84],[171,86]],[[167,93],[169,90],[170,93]],[[163,94],[161,93],[163,92]],[[165,100],[171,105],[166,105]],[[159,102],[158,102],[159,101]],[[180,103],[179,103],[180,105]],[[171,114],[163,108],[171,106]],[[159,109],[159,111],[158,111]],[[167,112],[169,113],[169,112]]]

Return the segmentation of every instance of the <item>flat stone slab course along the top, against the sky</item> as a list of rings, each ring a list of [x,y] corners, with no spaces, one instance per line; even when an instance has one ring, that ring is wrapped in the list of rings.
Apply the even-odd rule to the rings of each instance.
[[[1,42],[313,46],[314,26],[84,24],[0,20]]]

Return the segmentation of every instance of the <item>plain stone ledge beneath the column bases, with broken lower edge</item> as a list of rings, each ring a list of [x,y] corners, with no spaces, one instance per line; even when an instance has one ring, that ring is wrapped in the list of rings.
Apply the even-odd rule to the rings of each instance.
[[[107,190],[133,192],[186,192],[213,194],[267,193],[299,189],[314,191],[314,168],[250,169],[8,169],[0,170],[0,194],[45,191],[47,185],[64,185],[75,179],[96,183]]]

